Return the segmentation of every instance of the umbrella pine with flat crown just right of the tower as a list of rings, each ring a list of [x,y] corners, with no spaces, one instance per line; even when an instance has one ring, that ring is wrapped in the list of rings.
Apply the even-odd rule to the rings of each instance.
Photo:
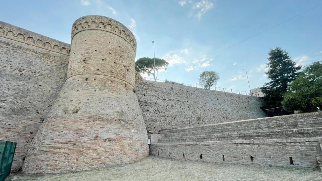
[[[156,66],[154,67],[153,58],[149,58],[149,57],[139,58],[135,62],[135,70],[147,73],[148,75],[152,74],[154,81],[156,81],[158,77],[158,71],[162,69],[166,70],[166,67],[169,65],[169,63],[160,58],[155,58],[155,61],[156,61]]]

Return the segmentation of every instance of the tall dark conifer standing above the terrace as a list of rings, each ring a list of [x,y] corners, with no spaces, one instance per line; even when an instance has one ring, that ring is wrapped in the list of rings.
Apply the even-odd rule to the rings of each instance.
[[[262,109],[282,106],[283,94],[302,68],[301,65],[296,66],[296,62],[292,61],[289,53],[280,47],[271,49],[268,55],[270,56],[267,63],[268,71],[265,73],[270,82],[261,87],[265,95],[262,97],[265,102]]]

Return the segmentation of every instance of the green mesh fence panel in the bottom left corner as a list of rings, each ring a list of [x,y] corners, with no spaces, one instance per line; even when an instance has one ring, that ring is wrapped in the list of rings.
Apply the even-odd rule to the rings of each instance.
[[[17,143],[0,140],[0,181],[10,174]]]

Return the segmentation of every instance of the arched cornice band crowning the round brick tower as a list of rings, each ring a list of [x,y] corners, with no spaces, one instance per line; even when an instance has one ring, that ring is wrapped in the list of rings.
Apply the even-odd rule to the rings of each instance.
[[[71,28],[71,40],[75,34],[84,30],[102,30],[114,33],[126,40],[136,52],[137,41],[133,33],[122,23],[100,15],[88,15],[78,18]]]

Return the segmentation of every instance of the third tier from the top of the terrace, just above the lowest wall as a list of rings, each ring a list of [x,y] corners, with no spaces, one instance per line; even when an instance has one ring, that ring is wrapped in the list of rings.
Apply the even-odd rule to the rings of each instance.
[[[308,129],[286,129],[275,131],[257,131],[230,134],[211,134],[198,136],[184,136],[173,138],[159,138],[158,143],[176,142],[203,142],[203,141],[230,141],[250,139],[285,139],[285,138],[311,138],[322,137],[322,127]]]

